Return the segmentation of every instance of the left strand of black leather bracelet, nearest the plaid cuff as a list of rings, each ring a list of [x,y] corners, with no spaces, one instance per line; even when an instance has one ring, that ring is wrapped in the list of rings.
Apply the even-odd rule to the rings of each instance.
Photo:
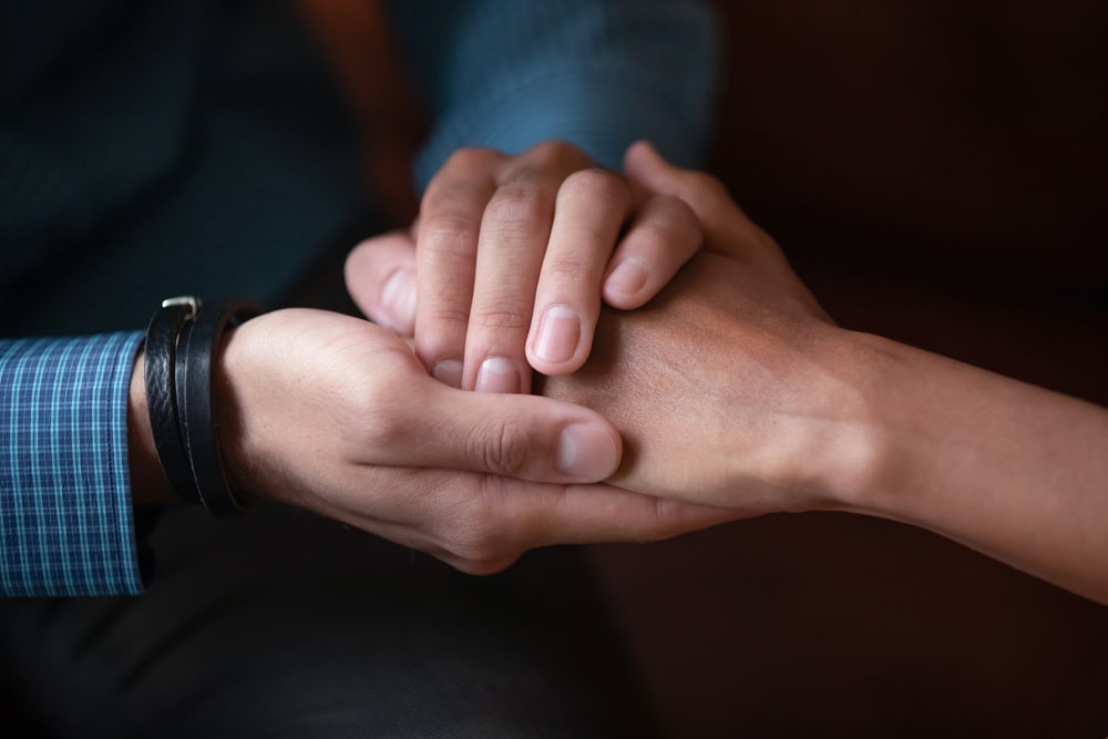
[[[194,298],[168,298],[146,327],[145,374],[146,408],[154,448],[162,472],[177,496],[198,503],[199,492],[193,482],[192,465],[181,438],[176,396],[176,352],[182,328],[196,314]]]

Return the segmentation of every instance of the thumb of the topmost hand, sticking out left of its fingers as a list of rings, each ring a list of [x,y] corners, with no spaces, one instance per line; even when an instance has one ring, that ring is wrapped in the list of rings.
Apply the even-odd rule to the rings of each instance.
[[[407,230],[368,238],[346,260],[347,291],[371,321],[400,336],[416,327],[416,243]]]

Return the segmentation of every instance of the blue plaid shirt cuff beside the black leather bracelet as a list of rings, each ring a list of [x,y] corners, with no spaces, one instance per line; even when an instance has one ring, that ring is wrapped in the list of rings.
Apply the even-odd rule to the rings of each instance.
[[[142,592],[126,422],[141,340],[0,339],[0,594]]]

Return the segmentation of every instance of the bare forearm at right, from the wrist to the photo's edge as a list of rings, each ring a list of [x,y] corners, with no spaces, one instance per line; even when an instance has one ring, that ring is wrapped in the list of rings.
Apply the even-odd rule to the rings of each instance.
[[[872,464],[847,507],[1108,603],[1108,411],[870,336]]]

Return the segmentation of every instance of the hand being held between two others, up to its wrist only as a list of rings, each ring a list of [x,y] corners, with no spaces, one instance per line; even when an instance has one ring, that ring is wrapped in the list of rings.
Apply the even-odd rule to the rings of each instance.
[[[606,312],[589,361],[542,392],[620,430],[613,484],[748,514],[828,505],[822,475],[860,448],[840,329],[717,181],[645,145],[628,152],[627,176],[687,202],[705,250],[652,305]]]

